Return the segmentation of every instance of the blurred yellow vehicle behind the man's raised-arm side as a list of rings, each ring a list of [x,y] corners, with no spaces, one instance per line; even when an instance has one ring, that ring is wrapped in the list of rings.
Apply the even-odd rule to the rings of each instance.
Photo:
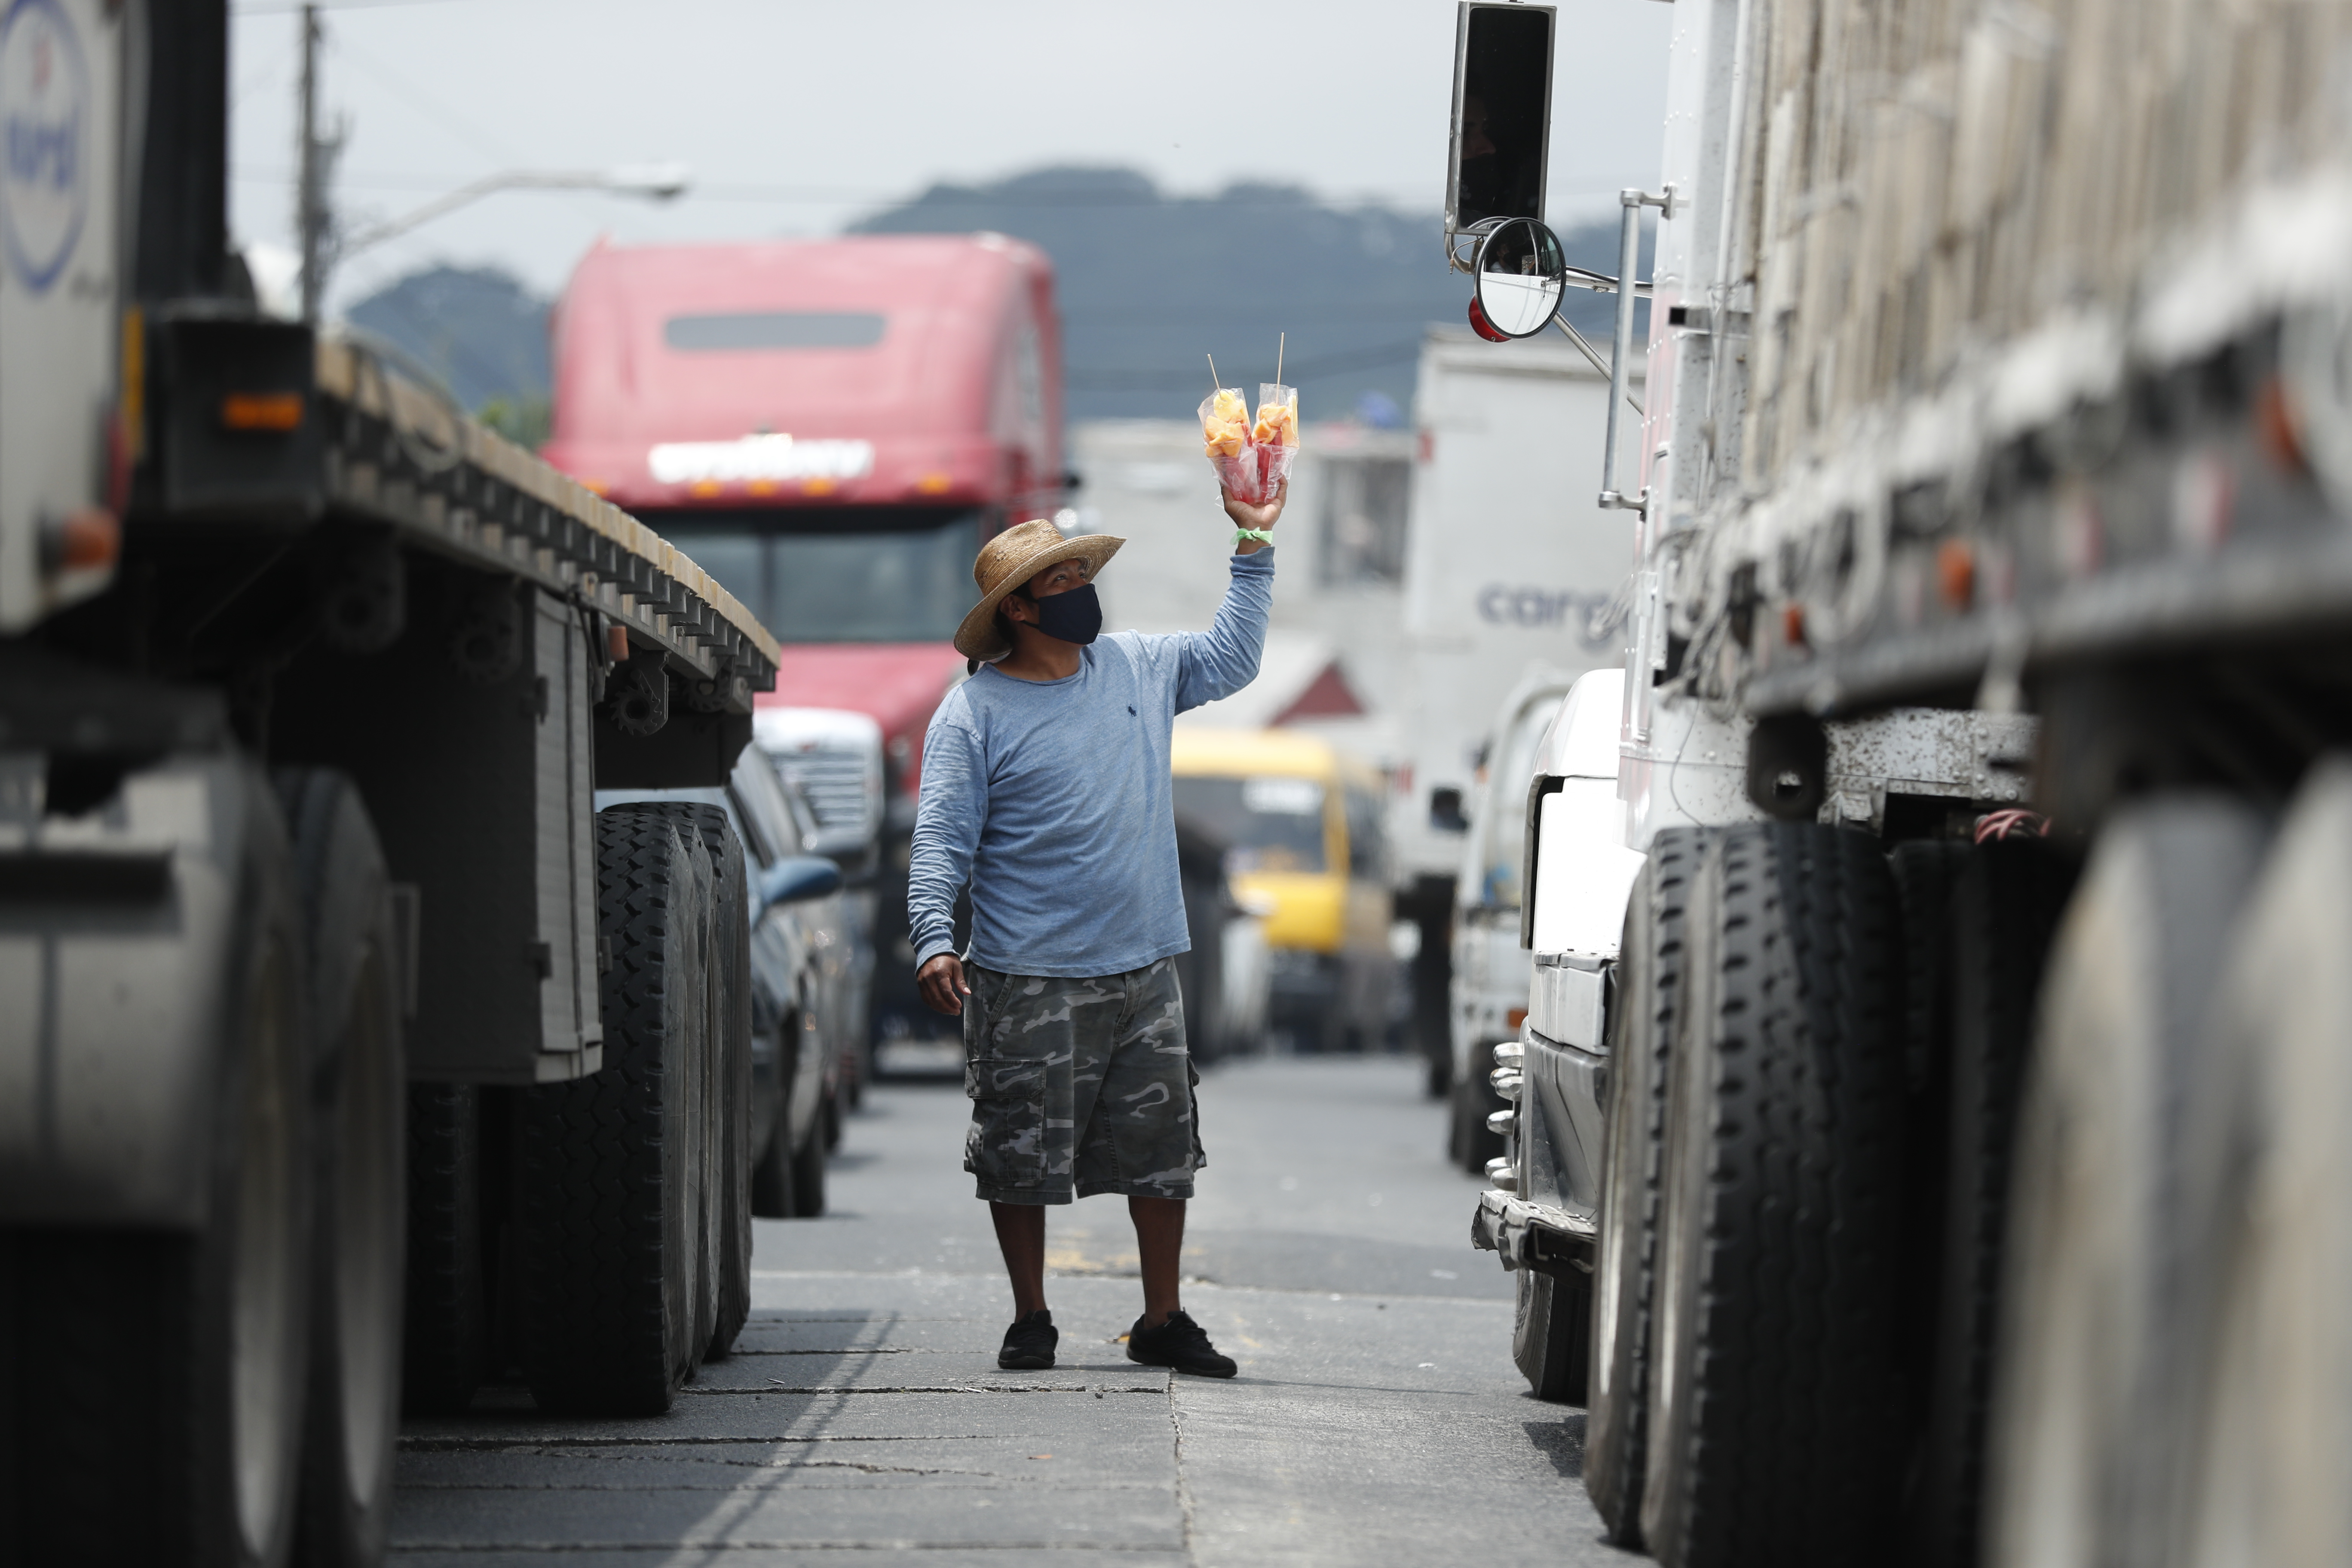
[[[1378,1046],[1397,994],[1381,776],[1279,729],[1178,726],[1171,757],[1176,816],[1265,917],[1270,1023],[1301,1051]]]

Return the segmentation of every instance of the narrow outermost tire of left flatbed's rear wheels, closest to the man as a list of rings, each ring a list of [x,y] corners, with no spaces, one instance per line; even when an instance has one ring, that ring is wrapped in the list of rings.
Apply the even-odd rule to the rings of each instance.
[[[691,825],[710,856],[717,886],[710,933],[717,994],[710,1041],[708,1124],[703,1143],[708,1171],[706,1199],[706,1272],[710,1274],[710,1356],[734,1349],[736,1335],[750,1321],[750,886],[746,884],[743,842],[720,806],[691,802],[633,802],[616,811],[649,811]]]

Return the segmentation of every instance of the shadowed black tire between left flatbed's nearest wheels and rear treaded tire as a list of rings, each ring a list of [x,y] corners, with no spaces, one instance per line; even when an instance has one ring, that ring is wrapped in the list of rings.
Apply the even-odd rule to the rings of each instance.
[[[489,1371],[482,1091],[409,1084],[409,1284],[400,1408],[461,1415]]]

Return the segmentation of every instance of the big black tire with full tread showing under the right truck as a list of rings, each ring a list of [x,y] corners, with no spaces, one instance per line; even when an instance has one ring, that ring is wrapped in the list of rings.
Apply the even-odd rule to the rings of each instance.
[[[1900,1479],[1900,926],[1875,839],[1722,830],[1670,1060],[1642,1537],[1875,1563]]]

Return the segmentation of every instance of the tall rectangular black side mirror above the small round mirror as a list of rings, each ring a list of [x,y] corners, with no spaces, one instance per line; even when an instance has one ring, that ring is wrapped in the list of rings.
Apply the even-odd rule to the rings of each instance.
[[[1446,254],[1456,268],[1456,235],[1496,219],[1543,216],[1550,141],[1552,7],[1461,5],[1446,146]]]

